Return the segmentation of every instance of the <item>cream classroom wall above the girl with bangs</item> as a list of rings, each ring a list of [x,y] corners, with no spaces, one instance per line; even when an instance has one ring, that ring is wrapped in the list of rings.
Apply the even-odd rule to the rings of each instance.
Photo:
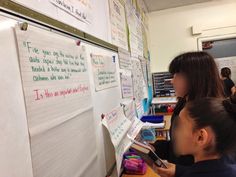
[[[167,71],[176,55],[198,49],[198,38],[236,34],[236,1],[216,0],[148,14],[151,71]],[[192,35],[192,26],[201,35]]]

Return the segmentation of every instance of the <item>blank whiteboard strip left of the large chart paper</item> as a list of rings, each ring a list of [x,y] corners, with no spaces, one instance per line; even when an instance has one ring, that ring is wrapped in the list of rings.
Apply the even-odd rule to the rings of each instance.
[[[0,15],[0,176],[33,177],[24,96],[15,46],[15,21]]]

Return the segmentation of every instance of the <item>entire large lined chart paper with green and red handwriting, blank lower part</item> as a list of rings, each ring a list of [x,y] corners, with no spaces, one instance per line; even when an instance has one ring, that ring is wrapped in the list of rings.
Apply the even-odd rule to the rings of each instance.
[[[97,158],[85,48],[33,26],[15,31],[34,176],[83,176]]]

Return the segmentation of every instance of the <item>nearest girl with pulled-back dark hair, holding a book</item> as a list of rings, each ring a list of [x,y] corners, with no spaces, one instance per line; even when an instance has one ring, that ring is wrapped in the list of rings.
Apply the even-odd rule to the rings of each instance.
[[[175,171],[158,168],[162,177],[236,177],[236,165],[226,160],[236,151],[236,99],[203,98],[188,102],[173,129],[178,155],[193,155],[195,163]]]

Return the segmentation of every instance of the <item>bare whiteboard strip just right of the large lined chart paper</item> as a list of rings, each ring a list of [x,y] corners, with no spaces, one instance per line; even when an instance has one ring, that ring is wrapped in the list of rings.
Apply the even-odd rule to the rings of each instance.
[[[97,146],[99,156],[99,162],[102,168],[103,174],[101,176],[105,176],[106,171],[110,170],[112,165],[115,163],[115,150],[113,144],[110,140],[110,136],[108,131],[102,126],[101,115],[110,112],[115,107],[119,106],[122,102],[121,100],[121,88],[120,88],[120,80],[118,79],[118,86],[112,87],[109,89],[96,91],[96,87],[94,84],[94,78],[92,74],[92,64],[91,64],[91,53],[96,55],[106,55],[110,57],[116,58],[116,70],[117,75],[119,73],[119,63],[118,63],[118,54],[116,52],[112,52],[106,49],[99,48],[95,45],[91,45],[88,43],[82,43],[87,48],[87,58],[88,58],[88,66],[90,71],[90,87],[92,91],[92,99],[93,99],[93,107],[94,107],[94,118],[95,118],[95,127],[96,127],[96,135],[97,135]],[[118,76],[117,76],[118,77]]]

